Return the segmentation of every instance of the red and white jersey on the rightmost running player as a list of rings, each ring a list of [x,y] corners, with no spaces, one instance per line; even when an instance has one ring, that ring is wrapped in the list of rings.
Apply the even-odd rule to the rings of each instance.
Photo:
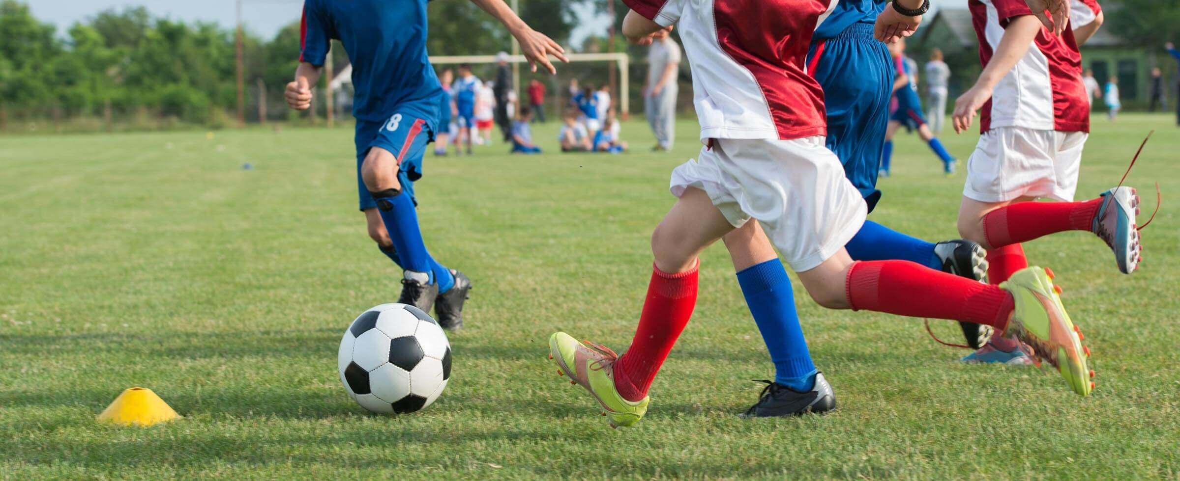
[[[999,46],[1008,21],[1032,14],[1024,0],[970,0],[968,6],[984,66]],[[1089,132],[1089,105],[1073,29],[1057,37],[1041,28],[1024,58],[996,85],[981,111],[979,126],[983,132],[994,127]]]

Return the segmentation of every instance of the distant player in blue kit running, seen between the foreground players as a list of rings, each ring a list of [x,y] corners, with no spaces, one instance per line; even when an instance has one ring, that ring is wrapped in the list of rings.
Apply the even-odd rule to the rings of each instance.
[[[943,143],[935,137],[935,132],[926,125],[926,118],[922,114],[922,100],[918,98],[918,87],[914,81],[914,72],[910,71],[909,62],[905,61],[905,40],[898,40],[889,46],[892,55],[897,77],[893,81],[893,97],[897,99],[897,110],[893,111],[889,121],[889,130],[885,132],[885,150],[880,157],[880,170],[886,177],[890,174],[890,166],[893,159],[893,136],[903,125],[907,130],[917,130],[918,137],[930,146],[930,150],[943,162],[943,172],[948,176],[955,173],[955,158]]]

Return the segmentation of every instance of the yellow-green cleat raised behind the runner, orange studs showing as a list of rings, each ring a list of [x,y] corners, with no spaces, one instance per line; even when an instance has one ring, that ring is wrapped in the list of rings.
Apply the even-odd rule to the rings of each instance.
[[[1025,268],[999,284],[1012,294],[1016,310],[1005,334],[1024,342],[1041,361],[1057,368],[1074,393],[1094,389],[1081,330],[1069,319],[1048,269]]]

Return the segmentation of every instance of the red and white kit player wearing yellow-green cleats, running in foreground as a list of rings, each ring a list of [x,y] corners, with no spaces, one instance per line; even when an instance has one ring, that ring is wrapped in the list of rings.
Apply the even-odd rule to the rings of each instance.
[[[821,305],[991,325],[1030,344],[1077,394],[1089,394],[1080,336],[1048,271],[1028,268],[997,286],[904,261],[848,257],[844,245],[865,222],[866,206],[825,147],[822,91],[804,66],[815,25],[834,2],[624,2],[631,11],[623,34],[632,41],[678,24],[706,146],[673,173],[678,200],[651,235],[654,272],[628,351],[618,356],[565,332],[550,337],[560,374],[589,390],[612,426],[631,426],[647,413],[648,389],[696,304],[697,255],[759,224]],[[929,2],[897,0],[880,17],[894,21],[883,37],[911,34],[919,7]]]

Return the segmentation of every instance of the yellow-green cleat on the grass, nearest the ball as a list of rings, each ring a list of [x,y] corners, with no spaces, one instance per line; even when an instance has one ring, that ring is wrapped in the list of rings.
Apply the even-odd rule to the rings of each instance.
[[[648,411],[650,397],[628,401],[615,388],[615,361],[618,355],[604,345],[578,342],[565,332],[549,336],[549,352],[557,362],[558,375],[582,384],[598,401],[614,428],[635,424]]]

